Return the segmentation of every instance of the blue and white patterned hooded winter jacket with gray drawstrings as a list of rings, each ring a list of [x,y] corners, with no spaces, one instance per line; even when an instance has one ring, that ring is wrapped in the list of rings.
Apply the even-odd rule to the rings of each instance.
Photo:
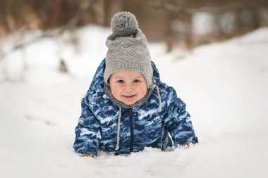
[[[105,60],[97,68],[90,89],[82,99],[82,113],[73,144],[76,153],[97,156],[101,149],[126,154],[142,151],[147,146],[165,151],[169,146],[198,142],[185,103],[177,98],[172,87],[161,82],[154,63],[153,77],[157,87],[145,103],[134,108],[120,108],[105,94],[104,68]]]

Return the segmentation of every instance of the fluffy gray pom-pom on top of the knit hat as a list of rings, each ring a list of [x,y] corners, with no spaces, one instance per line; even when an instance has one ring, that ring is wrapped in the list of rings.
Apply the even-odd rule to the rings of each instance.
[[[111,30],[116,37],[129,37],[138,32],[138,21],[130,12],[119,12],[111,19]]]

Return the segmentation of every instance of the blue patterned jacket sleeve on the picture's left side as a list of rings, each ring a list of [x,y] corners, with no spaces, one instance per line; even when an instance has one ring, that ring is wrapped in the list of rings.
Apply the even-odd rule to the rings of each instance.
[[[85,98],[82,99],[82,113],[75,128],[75,143],[73,148],[81,155],[90,154],[97,156],[101,132],[99,121],[87,106]]]

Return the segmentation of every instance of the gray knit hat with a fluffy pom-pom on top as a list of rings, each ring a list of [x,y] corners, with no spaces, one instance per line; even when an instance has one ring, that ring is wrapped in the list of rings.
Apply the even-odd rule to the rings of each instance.
[[[130,12],[119,12],[111,19],[112,34],[106,39],[104,82],[108,84],[111,74],[135,70],[144,75],[147,88],[152,85],[152,65],[147,40],[138,28],[138,21]]]

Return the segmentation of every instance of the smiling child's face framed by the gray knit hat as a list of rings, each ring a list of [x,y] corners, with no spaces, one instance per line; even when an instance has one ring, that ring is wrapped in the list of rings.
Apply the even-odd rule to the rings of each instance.
[[[147,94],[145,77],[134,70],[115,72],[109,77],[111,94],[118,101],[131,105]]]

